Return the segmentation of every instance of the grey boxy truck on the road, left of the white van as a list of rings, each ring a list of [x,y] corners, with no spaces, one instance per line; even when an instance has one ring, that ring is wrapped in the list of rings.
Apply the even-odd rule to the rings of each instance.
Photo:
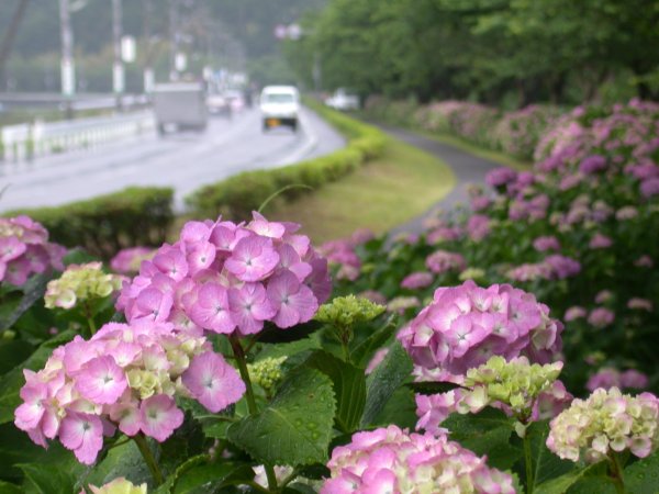
[[[209,113],[203,86],[196,82],[156,85],[154,112],[159,134],[165,134],[170,127],[205,131]]]

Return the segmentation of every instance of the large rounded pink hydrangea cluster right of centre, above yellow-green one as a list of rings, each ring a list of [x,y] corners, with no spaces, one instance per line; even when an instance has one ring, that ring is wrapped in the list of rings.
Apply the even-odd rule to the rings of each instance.
[[[547,363],[561,348],[562,324],[535,296],[509,284],[473,281],[439,288],[433,302],[398,335],[414,363],[461,382],[468,369],[494,355]]]

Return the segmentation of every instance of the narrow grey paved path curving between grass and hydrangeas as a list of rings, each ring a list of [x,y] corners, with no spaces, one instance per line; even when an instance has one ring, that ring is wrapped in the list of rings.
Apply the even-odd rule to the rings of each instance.
[[[384,125],[379,125],[379,127],[392,137],[403,141],[404,143],[407,143],[442,159],[450,167],[456,176],[456,187],[448,193],[446,198],[434,204],[421,216],[417,216],[414,220],[393,228],[391,231],[392,236],[395,236],[400,233],[422,233],[424,229],[423,222],[426,218],[434,216],[439,210],[446,210],[454,206],[458,202],[467,202],[467,184],[484,183],[488,171],[502,166],[495,161],[480,158],[449,144],[444,144],[439,141],[424,137],[411,131]]]

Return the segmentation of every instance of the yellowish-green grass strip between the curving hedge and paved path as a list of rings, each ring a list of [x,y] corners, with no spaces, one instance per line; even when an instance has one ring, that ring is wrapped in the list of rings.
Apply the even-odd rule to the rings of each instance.
[[[292,221],[314,244],[357,228],[384,233],[426,212],[455,187],[450,168],[432,155],[388,138],[384,153],[349,176],[291,202],[275,201],[268,220]]]

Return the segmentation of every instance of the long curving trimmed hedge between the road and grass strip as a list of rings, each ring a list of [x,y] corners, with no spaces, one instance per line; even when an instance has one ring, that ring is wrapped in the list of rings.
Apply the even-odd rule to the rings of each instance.
[[[252,211],[258,210],[264,201],[287,186],[317,189],[381,155],[386,138],[379,130],[315,101],[305,101],[305,104],[348,138],[344,149],[282,168],[246,171],[204,186],[186,198],[191,214],[196,217],[222,214],[231,220],[247,220]],[[306,192],[309,189],[291,188],[283,195],[291,200]]]

